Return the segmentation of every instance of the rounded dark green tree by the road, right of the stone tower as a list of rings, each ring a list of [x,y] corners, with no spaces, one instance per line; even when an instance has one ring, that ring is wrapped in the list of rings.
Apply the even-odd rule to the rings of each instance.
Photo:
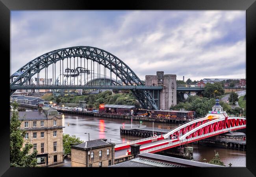
[[[204,97],[210,98],[214,96],[221,96],[223,95],[225,90],[223,89],[221,83],[206,83],[204,86],[204,91],[202,92]]]

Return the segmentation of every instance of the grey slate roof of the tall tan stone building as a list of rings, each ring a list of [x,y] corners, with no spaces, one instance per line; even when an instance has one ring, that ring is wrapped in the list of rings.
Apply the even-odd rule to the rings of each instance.
[[[10,118],[13,115],[13,112],[10,111]],[[26,120],[46,120],[46,115],[44,112],[39,111],[19,111],[19,120],[23,119],[25,116]]]

